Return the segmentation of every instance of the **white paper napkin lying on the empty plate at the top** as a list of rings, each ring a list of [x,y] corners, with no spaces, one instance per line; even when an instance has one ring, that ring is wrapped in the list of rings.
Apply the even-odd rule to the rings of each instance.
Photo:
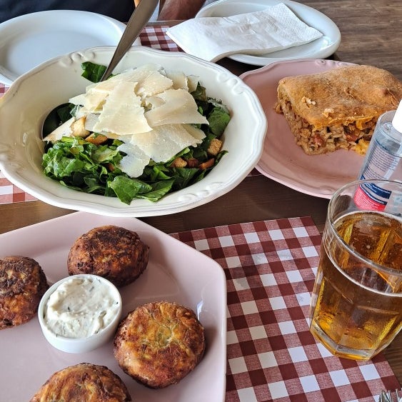
[[[268,54],[323,36],[283,4],[227,17],[189,19],[166,34],[186,53],[208,61],[231,54]]]

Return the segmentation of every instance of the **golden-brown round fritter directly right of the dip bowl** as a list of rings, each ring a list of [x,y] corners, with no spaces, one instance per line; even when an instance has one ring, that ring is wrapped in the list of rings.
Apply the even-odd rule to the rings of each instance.
[[[204,351],[203,326],[194,311],[167,301],[131,311],[114,338],[119,366],[150,388],[181,381],[199,364]]]

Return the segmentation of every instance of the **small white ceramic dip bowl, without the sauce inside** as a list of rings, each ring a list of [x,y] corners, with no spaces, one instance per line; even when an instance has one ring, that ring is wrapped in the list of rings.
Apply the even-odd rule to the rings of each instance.
[[[102,328],[98,333],[94,333],[91,336],[84,336],[81,338],[67,338],[66,336],[60,336],[51,328],[49,328],[48,323],[46,323],[45,312],[46,306],[52,293],[54,293],[61,284],[66,281],[80,281],[82,278],[87,278],[89,281],[99,281],[103,286],[106,286],[111,298],[116,301],[117,308],[114,317],[111,318],[110,323]],[[81,285],[82,286],[82,285]],[[85,301],[83,301],[85,303]],[[54,283],[50,288],[44,293],[38,307],[38,318],[41,330],[44,333],[46,340],[55,348],[68,352],[68,353],[84,353],[93,351],[104,343],[110,341],[116,332],[116,328],[119,325],[122,311],[122,301],[119,290],[114,286],[113,283],[108,281],[101,276],[91,275],[91,274],[78,274],[67,276]],[[96,314],[96,312],[94,312]]]

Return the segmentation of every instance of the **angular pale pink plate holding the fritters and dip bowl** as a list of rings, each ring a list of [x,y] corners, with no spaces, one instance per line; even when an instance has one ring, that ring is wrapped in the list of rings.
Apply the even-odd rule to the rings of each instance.
[[[71,354],[57,350],[41,333],[34,317],[28,323],[0,331],[1,401],[29,401],[55,371],[76,363],[109,367],[121,377],[138,402],[224,401],[226,389],[226,278],[218,263],[181,241],[136,218],[111,218],[71,213],[0,235],[0,257],[34,258],[49,284],[68,276],[66,259],[82,233],[113,224],[139,233],[150,247],[146,271],[120,288],[123,316],[149,301],[176,301],[192,308],[206,330],[206,354],[180,383],[160,390],[141,386],[119,368],[113,341],[95,351]]]

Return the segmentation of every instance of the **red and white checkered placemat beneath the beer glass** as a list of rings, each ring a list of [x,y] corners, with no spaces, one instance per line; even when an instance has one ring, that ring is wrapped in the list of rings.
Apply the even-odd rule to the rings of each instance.
[[[382,353],[367,363],[337,358],[311,335],[321,236],[310,217],[172,236],[226,273],[226,401],[376,401],[400,387]]]

